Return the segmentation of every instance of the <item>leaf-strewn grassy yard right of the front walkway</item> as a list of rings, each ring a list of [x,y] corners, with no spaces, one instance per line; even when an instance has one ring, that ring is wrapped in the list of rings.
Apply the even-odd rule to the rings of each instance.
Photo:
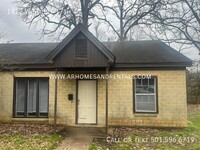
[[[90,150],[199,150],[200,105],[188,106],[188,127],[184,129],[122,127],[111,131],[113,135],[107,139],[95,139]]]

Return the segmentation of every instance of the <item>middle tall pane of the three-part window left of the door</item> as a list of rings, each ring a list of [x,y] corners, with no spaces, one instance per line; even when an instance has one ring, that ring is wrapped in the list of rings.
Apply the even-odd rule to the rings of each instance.
[[[36,98],[37,98],[37,80],[30,79],[28,81],[28,115],[36,115]]]

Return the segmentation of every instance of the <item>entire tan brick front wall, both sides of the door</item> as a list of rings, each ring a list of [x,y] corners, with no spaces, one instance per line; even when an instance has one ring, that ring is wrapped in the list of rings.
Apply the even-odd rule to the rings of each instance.
[[[66,72],[59,72],[65,73]],[[84,72],[85,73],[85,72]],[[185,71],[117,71],[112,74],[151,74],[158,77],[159,114],[133,113],[133,86],[130,79],[109,79],[109,125],[182,127],[187,124]],[[55,72],[23,71],[1,73],[0,119],[11,121],[13,107],[13,77],[49,77]],[[8,90],[9,89],[9,90]],[[98,80],[98,126],[105,126],[105,80]],[[58,80],[58,123],[75,125],[76,80]],[[49,80],[49,123],[54,116],[55,80]],[[37,120],[37,119],[36,119]]]

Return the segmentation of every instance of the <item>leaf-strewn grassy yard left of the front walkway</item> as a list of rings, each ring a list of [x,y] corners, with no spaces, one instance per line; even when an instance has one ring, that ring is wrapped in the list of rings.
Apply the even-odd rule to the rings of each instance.
[[[0,123],[0,149],[51,150],[62,137],[53,134],[53,127],[44,124]]]

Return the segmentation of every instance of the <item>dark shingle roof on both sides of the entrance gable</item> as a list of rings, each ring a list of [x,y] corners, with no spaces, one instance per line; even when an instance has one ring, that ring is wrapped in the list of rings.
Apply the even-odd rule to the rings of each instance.
[[[14,64],[44,64],[46,57],[59,43],[10,43],[0,44],[0,60]],[[191,60],[160,41],[106,42],[116,56],[116,63],[162,64],[185,63]]]

